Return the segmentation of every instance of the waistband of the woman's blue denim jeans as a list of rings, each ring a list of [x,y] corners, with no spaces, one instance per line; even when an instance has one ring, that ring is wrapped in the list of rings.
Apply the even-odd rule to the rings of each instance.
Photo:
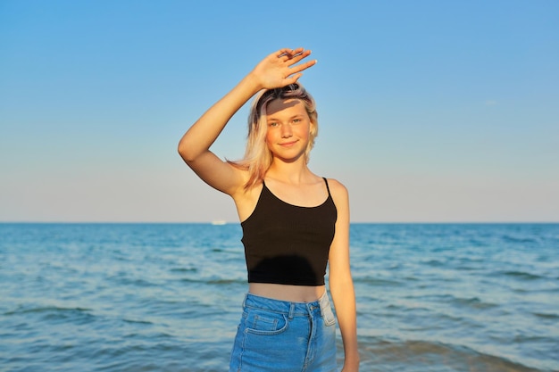
[[[243,307],[286,314],[288,318],[308,317],[313,315],[314,310],[320,310],[323,315],[324,309],[330,307],[330,299],[326,292],[313,302],[288,302],[246,293]]]

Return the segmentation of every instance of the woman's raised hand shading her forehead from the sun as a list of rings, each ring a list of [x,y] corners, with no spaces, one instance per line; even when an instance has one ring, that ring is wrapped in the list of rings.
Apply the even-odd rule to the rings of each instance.
[[[303,48],[280,49],[264,58],[254,67],[251,74],[263,89],[285,87],[293,84],[303,75],[301,71],[308,69],[316,60],[295,65],[311,54]]]

